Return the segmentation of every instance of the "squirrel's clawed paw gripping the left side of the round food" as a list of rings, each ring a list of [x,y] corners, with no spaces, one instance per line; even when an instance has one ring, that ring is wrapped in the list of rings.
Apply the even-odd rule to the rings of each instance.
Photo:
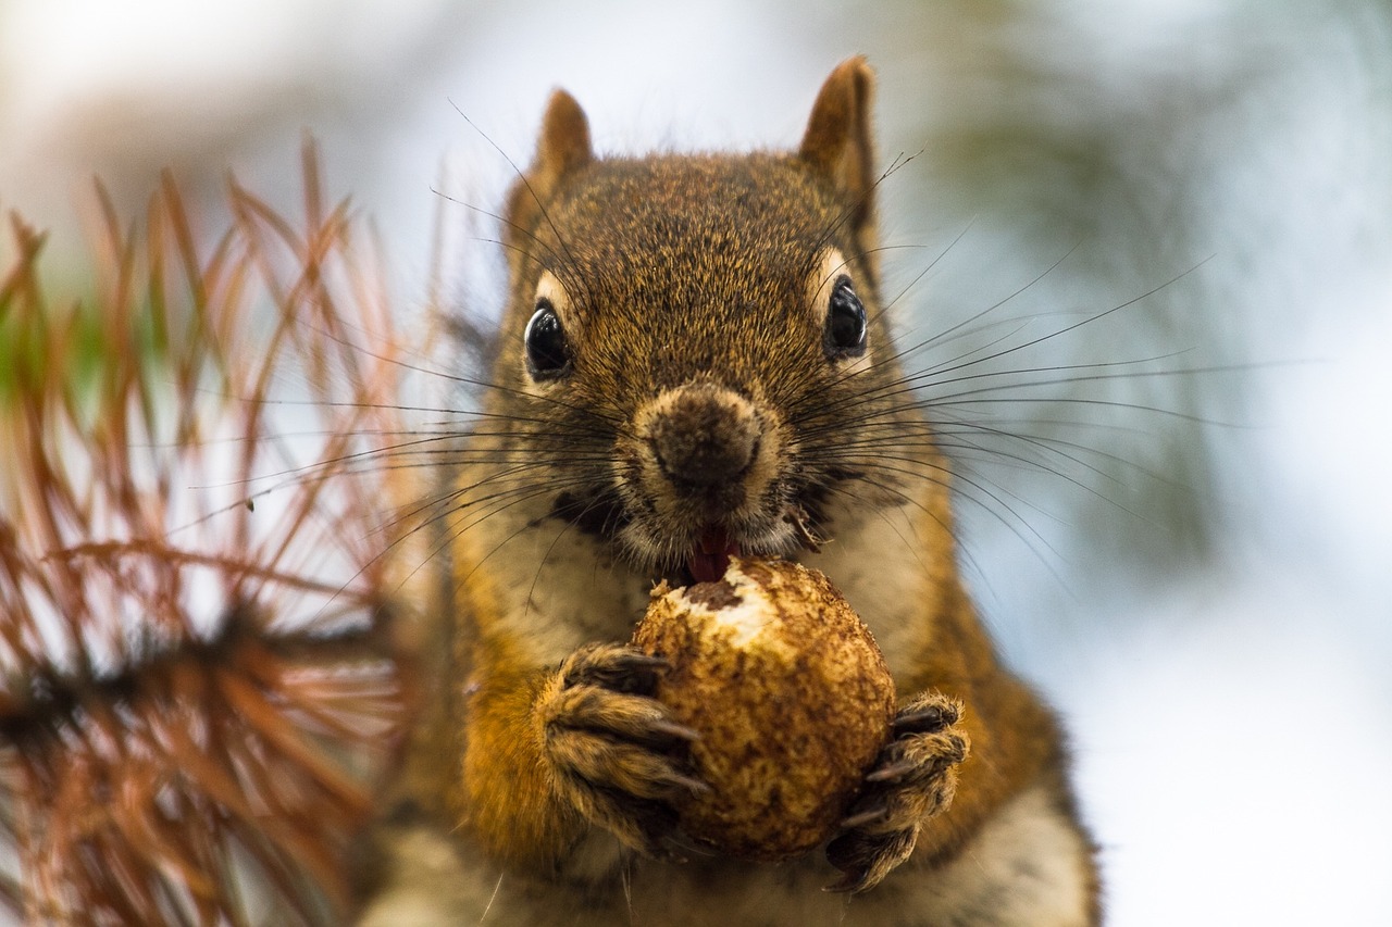
[[[651,697],[665,661],[625,644],[587,644],[561,664],[536,711],[562,800],[619,842],[671,859],[671,800],[707,786],[685,768],[696,732]]]

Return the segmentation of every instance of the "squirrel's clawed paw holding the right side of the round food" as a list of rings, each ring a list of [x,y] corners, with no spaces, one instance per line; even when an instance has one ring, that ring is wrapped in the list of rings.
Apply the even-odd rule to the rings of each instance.
[[[947,810],[969,740],[956,727],[962,704],[930,692],[903,707],[860,795],[827,845],[827,860],[845,873],[834,892],[864,892],[909,859],[919,827]]]

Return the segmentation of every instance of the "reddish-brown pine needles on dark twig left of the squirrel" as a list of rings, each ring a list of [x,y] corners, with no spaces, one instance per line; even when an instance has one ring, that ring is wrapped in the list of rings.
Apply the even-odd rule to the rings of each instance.
[[[401,345],[306,149],[303,227],[166,180],[96,295],[0,277],[3,898],[28,921],[331,920],[394,749]],[[92,344],[95,342],[95,349]],[[7,360],[6,360],[7,359]],[[386,448],[386,450],[384,450]]]

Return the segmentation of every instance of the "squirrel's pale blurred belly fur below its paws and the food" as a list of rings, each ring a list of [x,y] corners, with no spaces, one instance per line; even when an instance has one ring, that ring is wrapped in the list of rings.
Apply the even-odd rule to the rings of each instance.
[[[910,860],[853,898],[821,891],[835,873],[817,855],[778,866],[629,860],[597,882],[565,884],[500,871],[437,832],[404,832],[395,849],[365,927],[1082,927],[1089,917],[1087,846],[1044,785],[1002,807],[952,863]]]

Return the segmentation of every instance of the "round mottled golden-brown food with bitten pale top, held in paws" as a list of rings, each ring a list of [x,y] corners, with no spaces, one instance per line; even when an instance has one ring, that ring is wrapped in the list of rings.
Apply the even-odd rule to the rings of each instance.
[[[700,732],[709,793],[682,828],[745,859],[830,838],[889,736],[894,681],[841,593],[800,564],[732,558],[713,583],[653,590],[633,642],[671,668],[657,697]]]

